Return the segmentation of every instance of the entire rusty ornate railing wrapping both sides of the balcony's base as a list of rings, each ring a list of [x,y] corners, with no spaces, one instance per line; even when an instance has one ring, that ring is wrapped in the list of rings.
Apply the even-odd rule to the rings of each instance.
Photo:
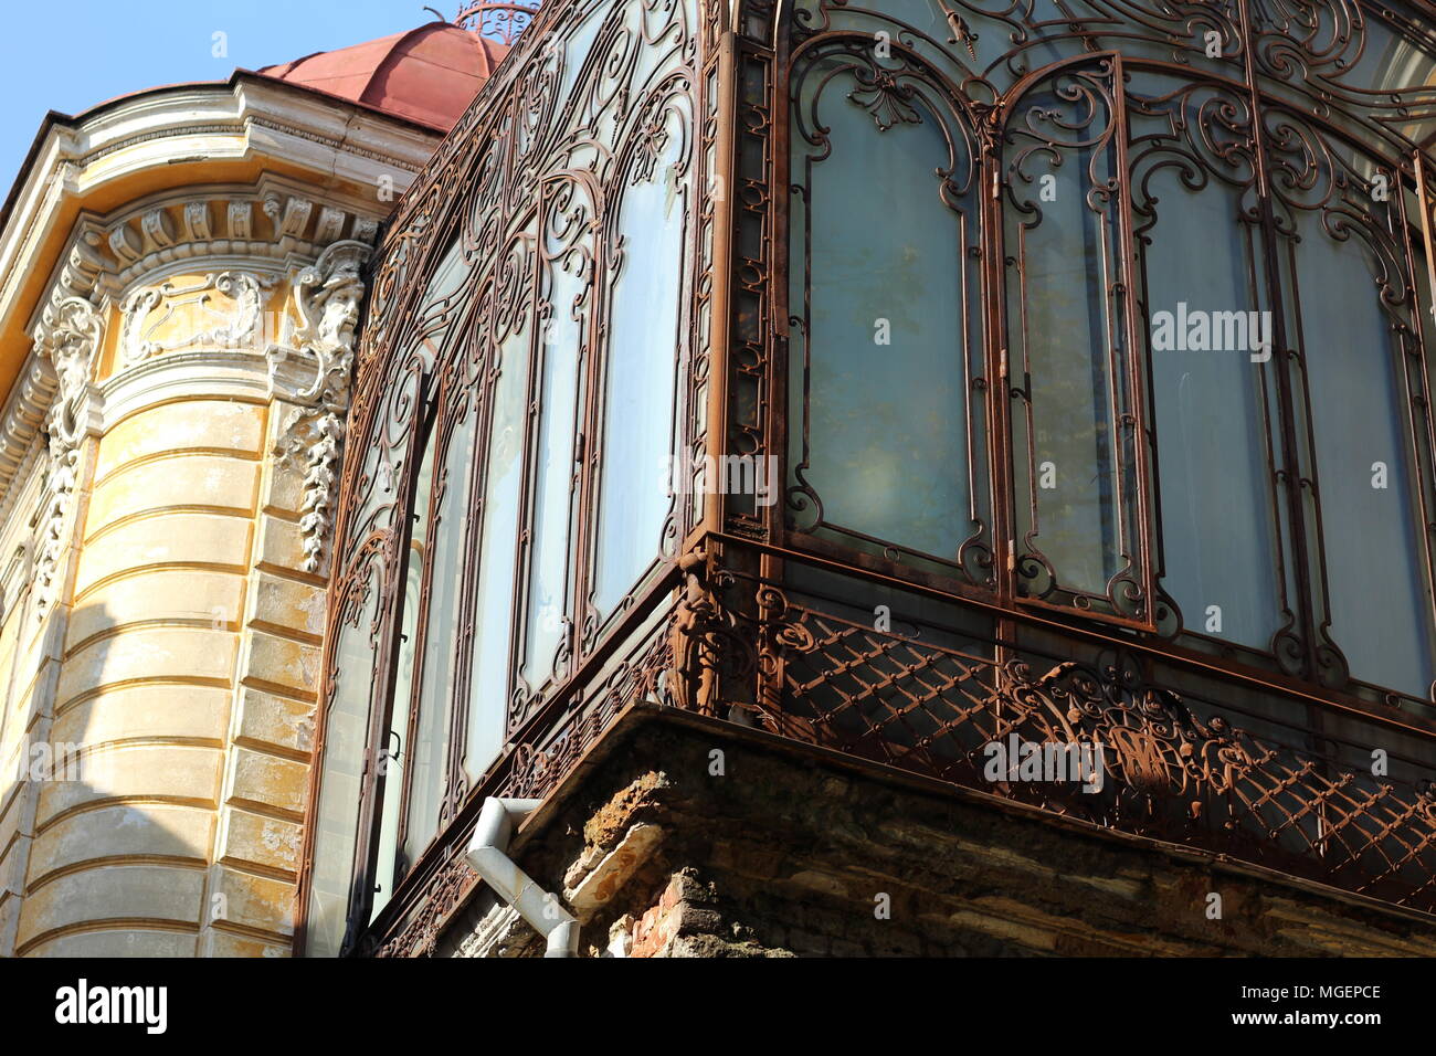
[[[860,570],[830,580],[837,599],[796,589],[791,563],[783,582],[708,553],[587,688],[526,731],[490,795],[550,795],[648,701],[1436,912],[1436,734],[1423,718],[1338,715],[1219,671],[1203,684],[1134,641],[1032,634],[1035,621],[988,621],[954,599],[939,603],[952,619],[913,619],[887,592],[890,612],[863,621],[875,583]],[[1100,779],[994,780],[988,746],[1012,737],[1087,746]],[[457,826],[451,846],[465,838]],[[452,853],[379,953],[426,951],[475,884]]]

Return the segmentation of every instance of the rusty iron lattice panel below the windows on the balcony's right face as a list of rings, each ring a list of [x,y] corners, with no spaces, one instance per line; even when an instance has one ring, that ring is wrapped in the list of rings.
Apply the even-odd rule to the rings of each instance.
[[[1132,667],[998,662],[790,606],[774,733],[1103,828],[1436,911],[1436,797],[1268,744]],[[1100,746],[1100,790],[988,780],[989,744]],[[1093,786],[1097,786],[1093,782]]]

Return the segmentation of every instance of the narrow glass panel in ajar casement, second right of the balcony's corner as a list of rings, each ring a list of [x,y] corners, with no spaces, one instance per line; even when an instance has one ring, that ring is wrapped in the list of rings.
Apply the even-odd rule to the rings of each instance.
[[[1101,596],[1133,556],[1122,496],[1132,451],[1117,424],[1127,397],[1116,198],[1093,191],[1114,182],[1114,151],[1100,138],[1111,114],[1090,92],[1086,76],[1060,75],[1010,121],[1037,131],[1018,132],[1004,158],[1007,297],[1012,385],[1027,386],[1031,408],[1014,404],[1018,553],[1043,555],[1058,586]],[[1020,560],[1018,570],[1027,592],[1050,588],[1038,563]]]

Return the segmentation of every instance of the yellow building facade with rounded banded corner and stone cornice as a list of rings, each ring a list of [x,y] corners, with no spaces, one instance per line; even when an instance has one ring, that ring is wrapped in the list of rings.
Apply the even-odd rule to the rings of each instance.
[[[52,118],[0,228],[0,955],[286,955],[365,264],[439,131]]]

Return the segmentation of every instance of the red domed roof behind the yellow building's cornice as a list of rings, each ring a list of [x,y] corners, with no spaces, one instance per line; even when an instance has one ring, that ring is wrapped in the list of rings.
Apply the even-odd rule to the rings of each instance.
[[[260,73],[448,131],[508,49],[448,22],[316,52]]]

